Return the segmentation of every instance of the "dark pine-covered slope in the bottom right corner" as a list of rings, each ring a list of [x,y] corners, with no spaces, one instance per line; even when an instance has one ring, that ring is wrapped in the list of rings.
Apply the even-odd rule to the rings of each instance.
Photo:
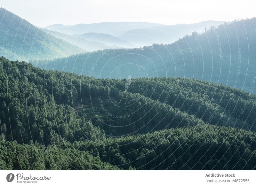
[[[170,166],[170,170],[255,170],[256,165],[255,132],[216,125],[108,138],[102,147],[88,141],[78,143],[81,149],[99,149],[102,161],[114,155],[108,162],[124,169],[164,170]],[[123,160],[131,163],[124,164]]]

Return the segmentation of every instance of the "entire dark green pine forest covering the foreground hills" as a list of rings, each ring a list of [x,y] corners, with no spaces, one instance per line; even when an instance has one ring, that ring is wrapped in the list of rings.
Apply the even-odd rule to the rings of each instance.
[[[0,90],[1,170],[256,166],[256,96],[245,91],[171,77],[97,79],[3,57]]]

